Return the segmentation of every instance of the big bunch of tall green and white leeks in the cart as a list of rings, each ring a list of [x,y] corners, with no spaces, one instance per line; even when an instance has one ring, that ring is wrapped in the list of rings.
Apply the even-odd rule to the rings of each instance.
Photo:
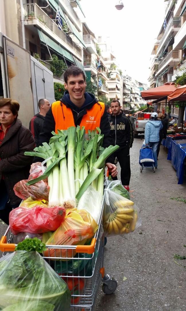
[[[27,156],[39,156],[47,163],[43,175],[28,180],[27,184],[32,185],[48,177],[49,207],[76,207],[76,200],[82,197],[90,184],[103,194],[105,161],[119,146],[104,149],[99,128],[89,131],[88,139],[84,127],[79,126],[52,134],[49,144],[45,142],[33,152],[25,152]]]

